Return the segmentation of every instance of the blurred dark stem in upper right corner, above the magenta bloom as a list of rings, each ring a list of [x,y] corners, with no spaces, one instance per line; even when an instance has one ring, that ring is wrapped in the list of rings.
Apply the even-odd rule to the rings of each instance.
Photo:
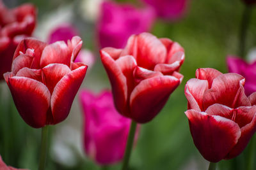
[[[246,5],[243,11],[243,18],[240,26],[240,39],[239,39],[239,56],[244,58],[245,43],[246,43],[246,33],[248,25],[250,22],[250,17],[252,14],[252,8],[249,5]]]

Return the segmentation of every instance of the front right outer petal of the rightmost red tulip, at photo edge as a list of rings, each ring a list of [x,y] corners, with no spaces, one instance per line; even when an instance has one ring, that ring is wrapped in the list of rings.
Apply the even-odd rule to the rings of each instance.
[[[241,128],[241,137],[239,138],[237,145],[232,148],[231,152],[228,153],[225,159],[232,159],[243,152],[244,148],[248,145],[256,131],[256,106],[241,107],[241,116],[251,121],[249,124],[246,124]]]

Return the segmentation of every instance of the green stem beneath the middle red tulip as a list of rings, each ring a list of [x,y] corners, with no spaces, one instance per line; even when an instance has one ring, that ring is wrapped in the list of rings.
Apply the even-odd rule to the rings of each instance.
[[[125,170],[128,167],[132,146],[133,146],[133,141],[134,141],[134,135],[136,131],[136,126],[137,126],[137,123],[132,120],[130,132],[129,132],[129,136],[128,136],[128,140],[125,148],[125,155],[124,155],[122,170]]]

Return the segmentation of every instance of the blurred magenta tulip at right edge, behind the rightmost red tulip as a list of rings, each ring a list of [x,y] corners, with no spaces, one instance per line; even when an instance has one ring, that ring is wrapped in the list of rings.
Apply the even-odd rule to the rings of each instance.
[[[244,84],[246,96],[256,92],[256,61],[252,64],[247,64],[243,59],[228,56],[227,65],[230,73],[237,73],[244,76],[246,80]]]

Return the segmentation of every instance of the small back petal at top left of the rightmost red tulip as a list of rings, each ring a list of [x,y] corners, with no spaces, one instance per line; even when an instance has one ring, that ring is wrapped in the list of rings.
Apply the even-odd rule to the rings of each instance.
[[[220,76],[222,73],[212,68],[200,68],[196,69],[196,78],[200,80],[207,80],[209,83],[209,89],[212,87],[212,81],[214,78]]]

